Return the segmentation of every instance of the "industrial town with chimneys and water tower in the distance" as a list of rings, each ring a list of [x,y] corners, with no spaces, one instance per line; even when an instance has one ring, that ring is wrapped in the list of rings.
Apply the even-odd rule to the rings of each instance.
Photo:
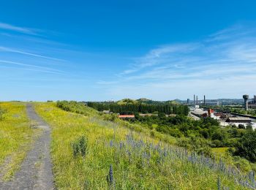
[[[184,103],[184,102],[183,102]],[[187,99],[189,106],[189,116],[192,118],[214,118],[220,123],[220,126],[252,126],[256,129],[256,95],[249,99],[249,95],[244,95],[243,99],[217,99],[198,100],[194,95],[193,102]],[[252,114],[248,114],[252,110]]]

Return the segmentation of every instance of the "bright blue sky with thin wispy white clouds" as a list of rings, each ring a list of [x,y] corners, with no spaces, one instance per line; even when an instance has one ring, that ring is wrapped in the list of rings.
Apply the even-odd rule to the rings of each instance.
[[[0,100],[256,94],[255,1],[5,1]]]

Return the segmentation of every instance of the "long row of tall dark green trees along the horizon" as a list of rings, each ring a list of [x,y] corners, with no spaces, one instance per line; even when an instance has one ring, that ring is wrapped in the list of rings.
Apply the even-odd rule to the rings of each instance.
[[[117,104],[117,103],[102,103],[102,102],[87,102],[89,107],[95,110],[103,111],[110,110],[113,113],[131,114],[131,113],[165,113],[188,115],[189,107],[187,105],[173,104]]]

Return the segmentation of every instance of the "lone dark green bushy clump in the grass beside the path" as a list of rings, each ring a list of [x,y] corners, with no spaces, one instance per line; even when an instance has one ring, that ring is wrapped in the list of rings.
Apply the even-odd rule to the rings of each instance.
[[[85,135],[78,137],[77,140],[72,142],[73,156],[78,157],[82,156],[86,157],[86,153],[88,151],[88,139]]]

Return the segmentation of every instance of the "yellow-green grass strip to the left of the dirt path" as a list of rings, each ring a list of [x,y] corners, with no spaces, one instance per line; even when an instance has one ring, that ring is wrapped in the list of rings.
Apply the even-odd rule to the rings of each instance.
[[[0,180],[9,180],[20,168],[39,131],[31,129],[25,104],[1,102],[0,107],[7,110],[0,121]]]

